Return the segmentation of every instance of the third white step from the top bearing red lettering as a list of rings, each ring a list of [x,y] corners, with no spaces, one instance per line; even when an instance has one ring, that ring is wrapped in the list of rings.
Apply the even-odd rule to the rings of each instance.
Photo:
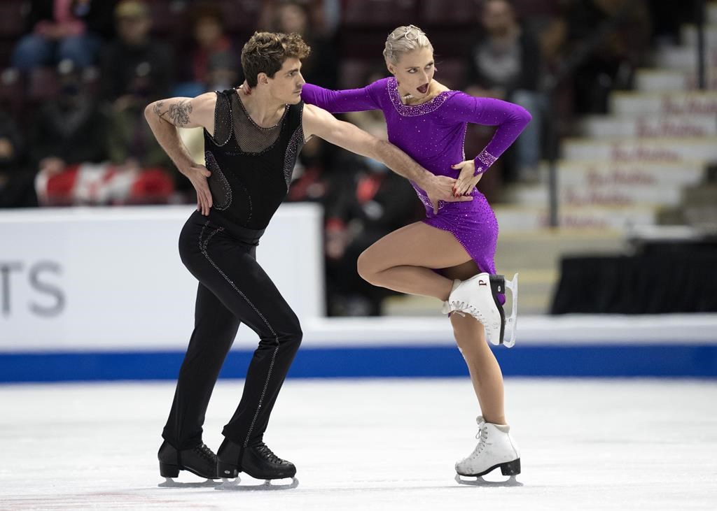
[[[705,160],[717,162],[717,137],[566,139],[564,160],[605,160],[609,162],[678,162]]]

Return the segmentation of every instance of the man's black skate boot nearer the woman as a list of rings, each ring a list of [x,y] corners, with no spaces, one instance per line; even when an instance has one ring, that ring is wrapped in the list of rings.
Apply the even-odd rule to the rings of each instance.
[[[246,472],[255,479],[284,479],[296,475],[293,463],[271,452],[264,442],[252,447],[241,447],[224,439],[217,451],[219,477],[237,477]]]

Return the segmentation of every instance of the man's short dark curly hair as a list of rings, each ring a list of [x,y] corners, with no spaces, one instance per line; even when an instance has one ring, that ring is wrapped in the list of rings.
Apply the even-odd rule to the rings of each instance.
[[[273,78],[286,59],[305,59],[310,52],[299,34],[255,32],[242,49],[244,77],[249,87],[256,87],[259,73]]]

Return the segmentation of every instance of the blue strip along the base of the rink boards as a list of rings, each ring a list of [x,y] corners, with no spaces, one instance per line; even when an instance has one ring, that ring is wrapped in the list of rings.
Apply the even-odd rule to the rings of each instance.
[[[572,344],[494,349],[505,376],[717,377],[716,344]],[[0,381],[176,379],[179,351],[0,354]],[[243,378],[252,351],[232,351],[222,378]],[[455,346],[300,349],[290,378],[467,376]]]

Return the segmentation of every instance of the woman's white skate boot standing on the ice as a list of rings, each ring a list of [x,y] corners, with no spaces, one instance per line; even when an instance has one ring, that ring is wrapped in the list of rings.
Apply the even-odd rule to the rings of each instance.
[[[511,427],[507,424],[485,422],[480,415],[475,422],[478,422],[478,445],[469,457],[455,464],[456,482],[475,486],[521,486],[521,483],[516,481],[516,475],[521,473],[521,454],[511,437]],[[498,467],[503,475],[511,477],[501,482],[483,479],[483,475]],[[476,480],[463,480],[460,476],[475,477]]]

